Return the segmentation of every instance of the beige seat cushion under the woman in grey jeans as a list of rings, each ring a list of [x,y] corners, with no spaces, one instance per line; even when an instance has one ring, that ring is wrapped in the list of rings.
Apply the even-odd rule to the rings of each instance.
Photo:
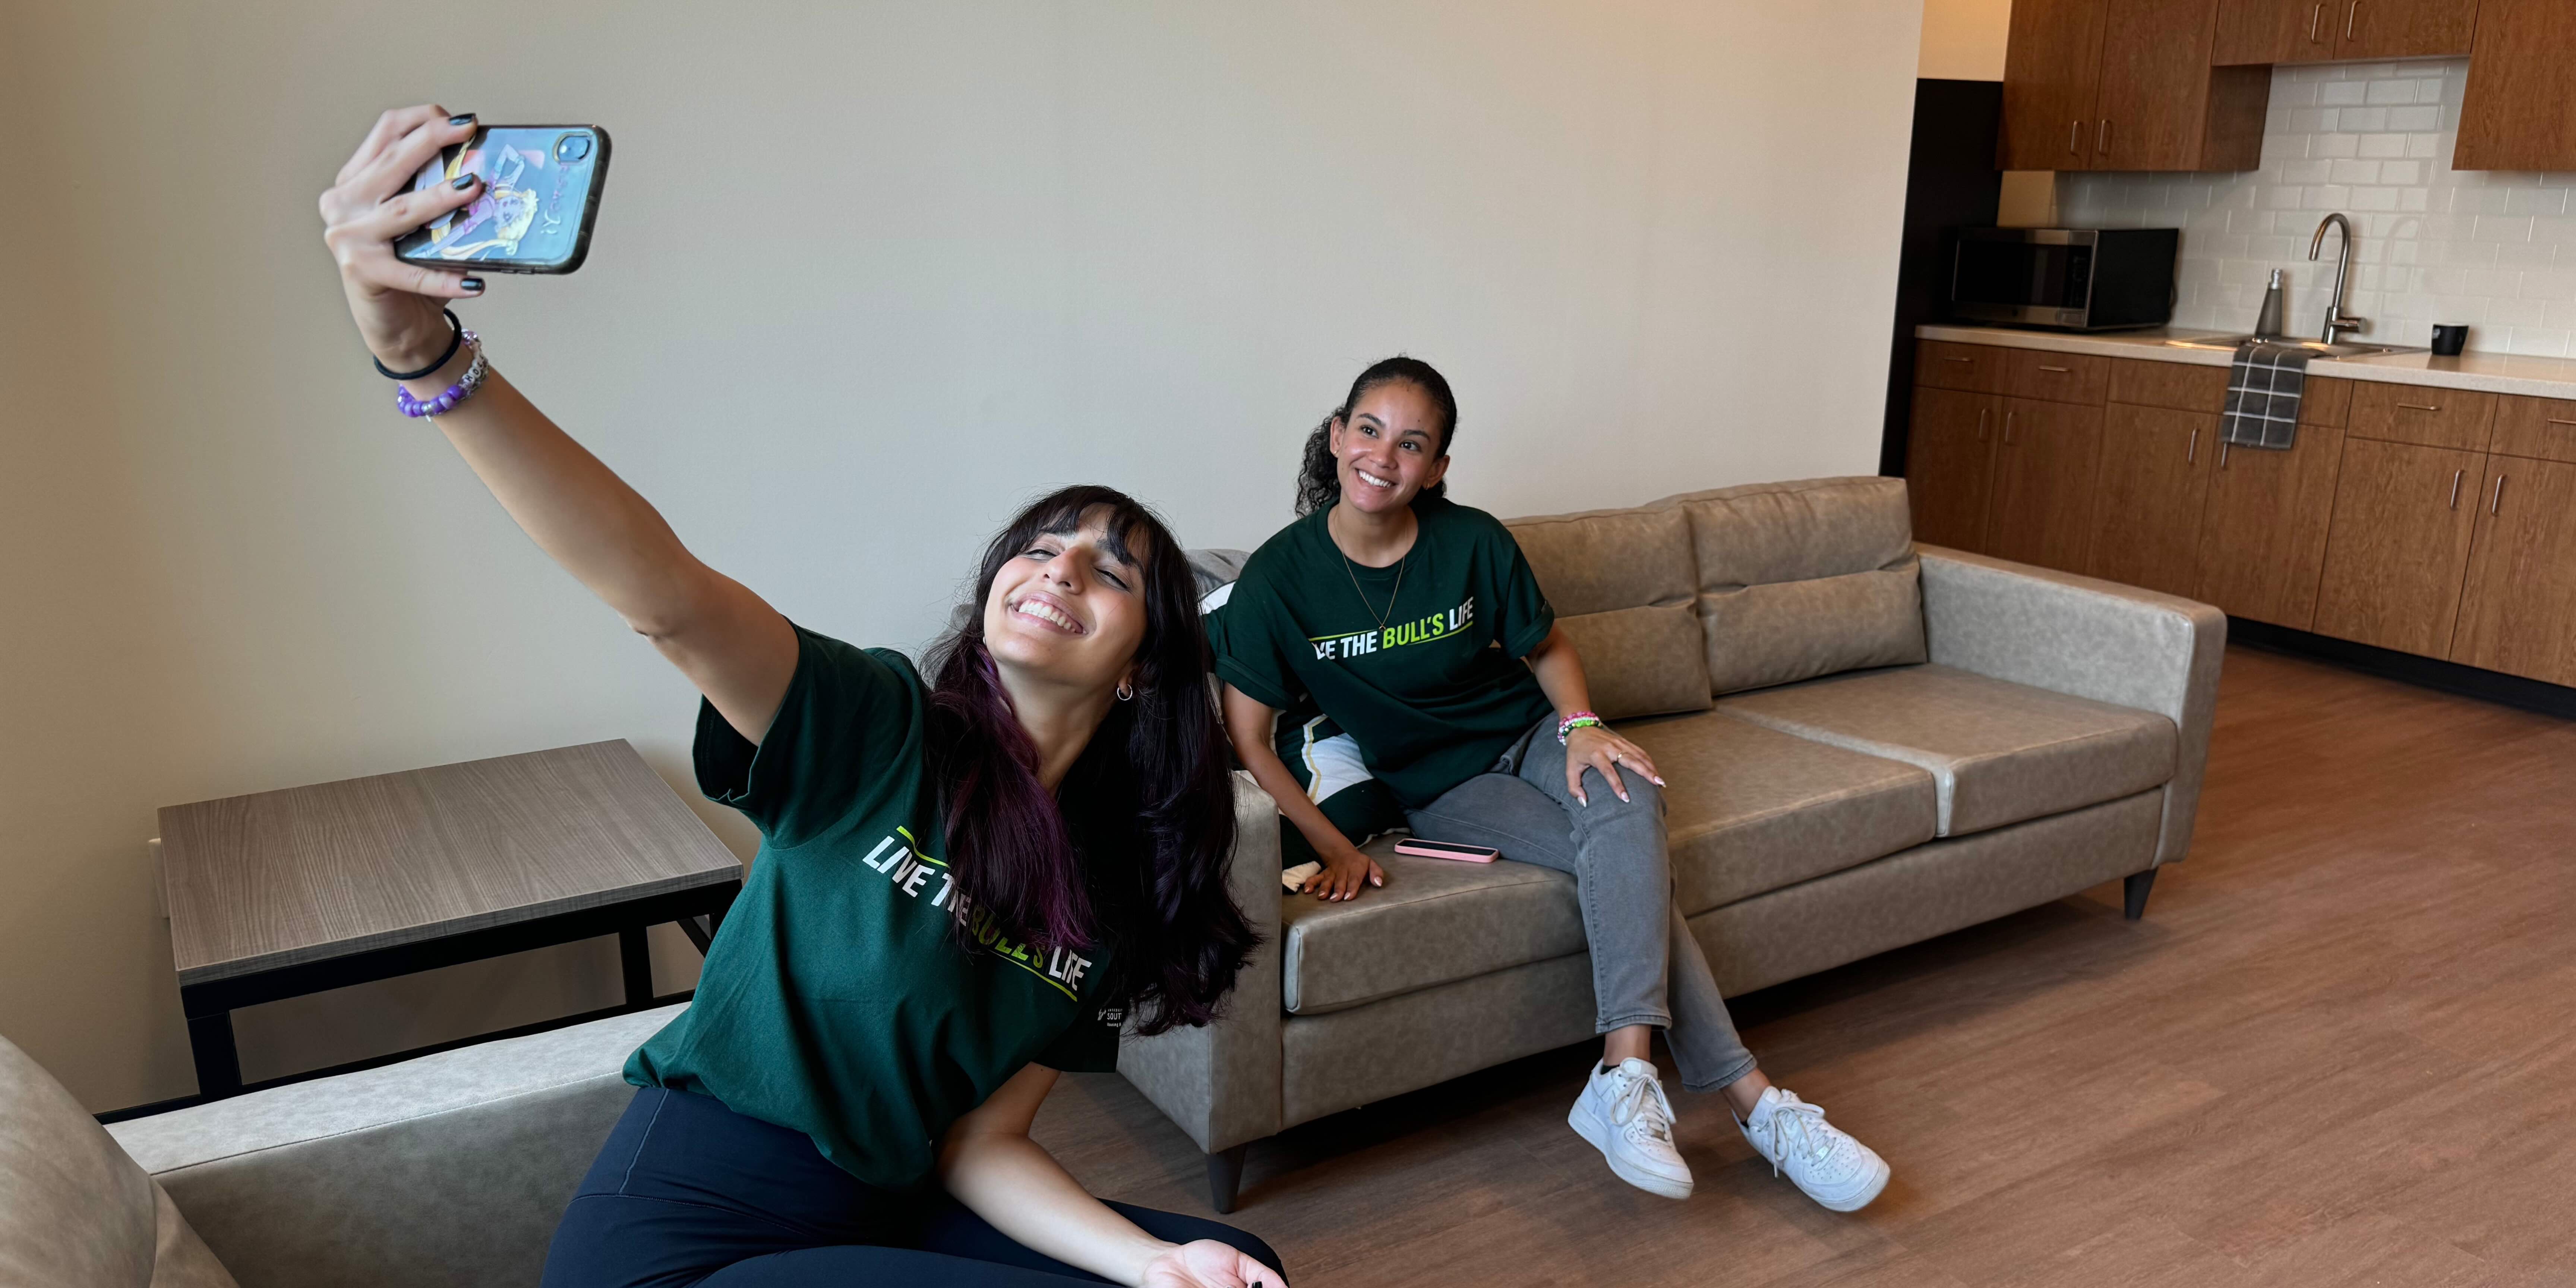
[[[1394,837],[1365,845],[1386,868],[1383,889],[1340,904],[1311,894],[1280,902],[1288,1010],[1324,1015],[1584,951],[1571,876],[1507,858],[1409,858],[1394,845]]]

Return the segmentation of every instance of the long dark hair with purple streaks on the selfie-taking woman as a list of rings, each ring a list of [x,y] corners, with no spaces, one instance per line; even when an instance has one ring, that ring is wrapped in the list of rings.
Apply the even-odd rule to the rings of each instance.
[[[1041,533],[1108,510],[1113,541],[1144,564],[1144,641],[1133,701],[1110,708],[1056,793],[984,652],[984,603],[1002,564]],[[969,920],[1030,940],[1110,951],[1110,992],[1144,1007],[1141,1033],[1203,1025],[1252,953],[1226,896],[1234,781],[1208,690],[1198,582],[1162,518],[1110,487],[1066,487],[1010,520],[974,582],[974,613],[930,652],[930,765],[948,863]]]

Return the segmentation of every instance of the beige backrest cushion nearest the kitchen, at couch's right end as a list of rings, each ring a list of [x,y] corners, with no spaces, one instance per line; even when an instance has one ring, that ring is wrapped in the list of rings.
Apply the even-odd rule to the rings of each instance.
[[[1801,479],[1667,497],[1690,520],[1716,693],[1922,662],[1904,479]]]

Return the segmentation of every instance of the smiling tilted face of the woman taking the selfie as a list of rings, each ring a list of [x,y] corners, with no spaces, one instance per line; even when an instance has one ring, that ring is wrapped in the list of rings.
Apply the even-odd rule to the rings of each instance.
[[[1126,680],[1144,644],[1144,562],[1110,533],[1097,505],[1064,533],[1038,533],[1002,562],[984,595],[984,649],[1020,677],[1105,693]]]

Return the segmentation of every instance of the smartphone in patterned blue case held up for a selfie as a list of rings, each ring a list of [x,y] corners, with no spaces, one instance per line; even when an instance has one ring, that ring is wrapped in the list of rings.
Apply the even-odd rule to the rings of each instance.
[[[394,240],[394,258],[430,268],[572,273],[590,255],[590,222],[608,180],[600,126],[482,126],[412,175],[412,191],[479,175],[471,206]]]

